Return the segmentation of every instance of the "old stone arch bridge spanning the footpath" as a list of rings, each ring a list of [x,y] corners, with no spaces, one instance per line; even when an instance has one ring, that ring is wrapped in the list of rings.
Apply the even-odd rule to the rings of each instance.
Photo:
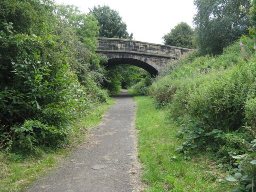
[[[98,38],[96,52],[106,56],[107,66],[129,64],[143,68],[152,76],[161,72],[172,59],[191,49],[128,39]]]

